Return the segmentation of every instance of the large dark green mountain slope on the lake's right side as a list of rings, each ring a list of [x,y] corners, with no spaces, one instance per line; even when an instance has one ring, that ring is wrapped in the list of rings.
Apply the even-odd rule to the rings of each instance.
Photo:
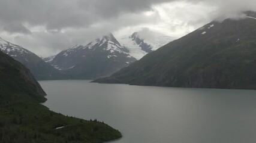
[[[212,22],[101,83],[256,89],[256,18]]]

